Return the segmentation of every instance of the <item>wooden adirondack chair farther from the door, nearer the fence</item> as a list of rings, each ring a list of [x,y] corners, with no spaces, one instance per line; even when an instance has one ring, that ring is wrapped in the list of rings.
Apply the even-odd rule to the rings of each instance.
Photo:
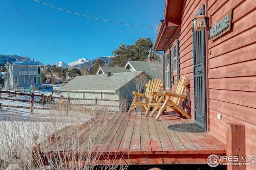
[[[158,91],[160,87],[163,87],[164,84],[161,84],[160,79],[152,79],[148,81],[148,84],[146,84],[146,91],[145,94],[139,93],[139,92],[132,92],[134,94],[134,98],[132,101],[132,104],[130,106],[130,109],[127,113],[127,115],[130,115],[131,111],[136,109],[136,107],[141,106],[144,111],[146,111],[146,114],[150,111],[151,107],[148,107],[149,102],[157,102],[160,98],[160,96],[157,96],[156,94],[151,95],[151,91]],[[142,97],[142,102],[138,99],[138,96]]]

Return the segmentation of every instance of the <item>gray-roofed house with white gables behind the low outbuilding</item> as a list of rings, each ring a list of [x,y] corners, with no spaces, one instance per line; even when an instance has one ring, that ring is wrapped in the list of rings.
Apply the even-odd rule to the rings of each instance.
[[[162,64],[162,63],[161,63]],[[162,80],[162,65],[147,61],[128,61],[124,67],[103,67],[100,66],[96,74],[106,74],[107,72],[135,72],[145,71],[152,78]]]

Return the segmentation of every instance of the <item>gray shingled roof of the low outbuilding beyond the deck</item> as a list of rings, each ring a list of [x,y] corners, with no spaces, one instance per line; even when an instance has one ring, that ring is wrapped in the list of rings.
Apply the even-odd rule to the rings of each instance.
[[[116,92],[122,86],[130,82],[136,75],[143,71],[113,73],[109,77],[106,74],[95,74],[89,76],[77,76],[60,91],[80,92]],[[151,77],[150,77],[151,78]]]

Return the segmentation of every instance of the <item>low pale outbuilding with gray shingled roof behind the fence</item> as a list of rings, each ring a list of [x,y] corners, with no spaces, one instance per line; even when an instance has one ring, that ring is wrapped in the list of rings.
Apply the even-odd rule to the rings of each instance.
[[[77,76],[68,84],[65,84],[58,90],[62,92],[64,98],[82,98],[82,99],[104,99],[104,100],[133,100],[133,91],[136,89],[136,81],[144,80],[141,87],[145,88],[146,82],[152,79],[144,71],[121,72],[108,74],[95,74],[88,76]],[[94,104],[94,101],[92,101]],[[119,106],[119,102],[108,102],[107,105]],[[116,110],[118,111],[118,110]]]

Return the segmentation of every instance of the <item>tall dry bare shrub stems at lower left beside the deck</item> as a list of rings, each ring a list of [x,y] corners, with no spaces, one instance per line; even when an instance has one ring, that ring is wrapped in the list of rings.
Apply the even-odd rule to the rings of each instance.
[[[109,125],[105,119],[111,119],[111,112],[96,114],[70,103],[49,104],[47,108],[52,109],[34,109],[33,114],[25,108],[2,108],[0,170],[10,165],[27,170],[127,168],[101,150],[107,133],[104,127]]]

